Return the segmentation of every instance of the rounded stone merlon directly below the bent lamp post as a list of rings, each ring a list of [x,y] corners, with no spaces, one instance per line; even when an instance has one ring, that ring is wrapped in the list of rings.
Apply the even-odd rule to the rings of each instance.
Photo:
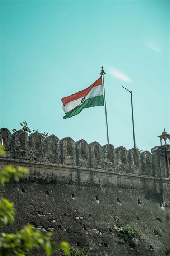
[[[137,149],[128,150],[128,167],[130,173],[142,174],[140,151]]]

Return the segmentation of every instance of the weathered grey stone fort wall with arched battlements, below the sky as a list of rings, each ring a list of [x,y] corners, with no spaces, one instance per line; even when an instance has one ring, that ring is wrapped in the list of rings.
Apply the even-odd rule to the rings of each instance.
[[[90,248],[92,255],[169,255],[169,146],[140,154],[22,130],[11,135],[2,128],[0,136],[7,152],[0,167],[29,169],[19,184],[0,188],[16,208],[15,224],[5,231],[32,223],[44,233],[52,230],[56,242]],[[138,252],[119,243],[125,225],[142,228]]]

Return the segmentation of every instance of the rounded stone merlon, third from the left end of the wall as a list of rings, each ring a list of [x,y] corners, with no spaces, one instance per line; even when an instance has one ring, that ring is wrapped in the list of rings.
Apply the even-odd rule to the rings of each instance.
[[[44,161],[44,137],[39,132],[34,132],[29,135],[30,150],[29,156],[30,160]]]

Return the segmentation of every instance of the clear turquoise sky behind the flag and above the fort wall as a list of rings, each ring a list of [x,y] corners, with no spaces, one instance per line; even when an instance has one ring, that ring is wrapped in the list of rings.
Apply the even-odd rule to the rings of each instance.
[[[109,141],[160,145],[170,133],[170,1],[1,0],[0,127],[107,144],[104,106],[63,119],[61,98],[107,73]]]

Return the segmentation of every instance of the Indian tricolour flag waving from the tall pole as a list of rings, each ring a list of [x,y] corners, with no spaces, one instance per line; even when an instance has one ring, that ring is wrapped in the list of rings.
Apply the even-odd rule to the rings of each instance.
[[[65,118],[77,115],[88,107],[104,106],[102,76],[88,88],[61,99]]]

